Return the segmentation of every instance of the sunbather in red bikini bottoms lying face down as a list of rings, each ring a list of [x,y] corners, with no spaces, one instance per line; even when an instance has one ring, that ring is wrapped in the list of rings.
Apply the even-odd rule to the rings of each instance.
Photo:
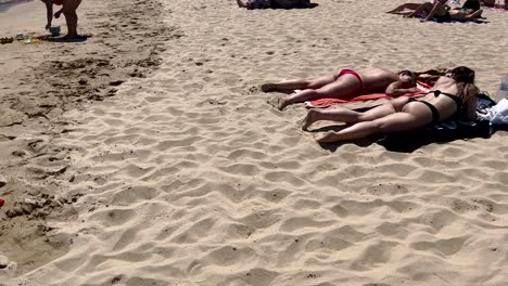
[[[280,110],[293,103],[318,99],[343,99],[379,91],[392,96],[418,92],[414,73],[402,70],[395,74],[383,68],[370,68],[358,72],[342,69],[333,75],[319,78],[265,83],[261,86],[261,89],[264,92],[270,90],[302,90],[293,95],[280,99],[278,103]]]

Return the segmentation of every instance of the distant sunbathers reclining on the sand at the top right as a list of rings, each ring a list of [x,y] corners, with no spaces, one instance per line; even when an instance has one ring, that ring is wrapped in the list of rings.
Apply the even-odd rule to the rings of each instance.
[[[482,16],[483,11],[477,9],[477,5],[473,0],[471,2],[465,3],[462,9],[452,9],[446,4],[448,0],[434,0],[433,2],[424,3],[405,3],[402,4],[386,13],[404,15],[406,17],[416,17],[424,16],[422,21],[429,21],[432,18],[439,21],[469,21],[479,18]]]

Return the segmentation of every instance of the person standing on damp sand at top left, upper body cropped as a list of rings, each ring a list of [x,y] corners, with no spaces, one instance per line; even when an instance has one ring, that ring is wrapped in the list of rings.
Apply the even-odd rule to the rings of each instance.
[[[77,22],[78,16],[76,14],[76,10],[78,9],[81,0],[41,0],[46,4],[47,10],[47,17],[48,24],[46,25],[46,29],[51,28],[51,23],[53,21],[53,4],[62,5],[62,10],[55,13],[55,17],[60,17],[60,14],[63,13],[65,16],[65,22],[67,23],[67,35],[65,38],[82,38],[77,32]]]

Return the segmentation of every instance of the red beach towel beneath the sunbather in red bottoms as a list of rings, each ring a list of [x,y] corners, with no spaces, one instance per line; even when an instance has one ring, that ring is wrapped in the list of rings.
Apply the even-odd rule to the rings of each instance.
[[[404,96],[409,96],[409,98],[423,96],[427,93],[429,93],[429,90],[431,87],[424,82],[417,81],[417,88],[420,90],[419,92],[407,93],[407,94],[404,94]],[[348,103],[348,102],[364,102],[364,101],[371,101],[371,100],[379,100],[379,99],[393,99],[393,96],[390,96],[385,93],[372,93],[372,94],[356,95],[356,96],[346,98],[346,99],[320,99],[320,100],[315,100],[315,101],[307,101],[305,102],[305,105],[308,108],[325,108],[333,104],[341,104],[341,103]]]

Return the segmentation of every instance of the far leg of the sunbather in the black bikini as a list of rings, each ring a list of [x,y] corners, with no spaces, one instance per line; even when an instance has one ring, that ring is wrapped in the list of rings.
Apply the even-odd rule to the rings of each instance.
[[[408,100],[409,98],[402,96],[365,113],[358,113],[343,107],[335,109],[310,109],[302,121],[302,129],[307,130],[310,125],[320,120],[339,121],[345,123],[371,121],[402,110]]]

